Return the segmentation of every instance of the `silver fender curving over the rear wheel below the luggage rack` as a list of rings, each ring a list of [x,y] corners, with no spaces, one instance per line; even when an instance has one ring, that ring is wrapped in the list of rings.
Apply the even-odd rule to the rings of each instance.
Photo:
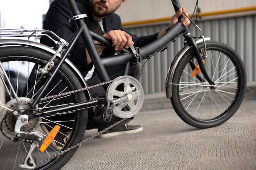
[[[40,49],[40,50],[50,53],[52,55],[54,55],[56,53],[56,50],[50,48],[49,46],[40,44],[38,42],[29,41],[29,40],[2,39],[2,40],[0,40],[0,47],[2,47],[2,46],[29,46],[31,48]],[[58,54],[57,57],[61,58],[61,54]],[[88,87],[83,75],[76,68],[76,66],[68,59],[65,59],[65,64],[67,64],[67,66],[76,74],[76,76],[79,77],[79,80],[80,80],[82,86]],[[92,97],[91,97],[90,93],[88,93],[88,91],[85,92],[85,95],[88,100],[92,99]]]

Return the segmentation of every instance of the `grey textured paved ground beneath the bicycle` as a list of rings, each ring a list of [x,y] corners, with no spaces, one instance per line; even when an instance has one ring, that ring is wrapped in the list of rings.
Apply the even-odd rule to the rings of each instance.
[[[255,95],[255,93],[254,93]],[[144,130],[83,144],[62,170],[256,170],[256,100],[245,99],[225,124],[198,129],[172,108],[146,110]],[[88,130],[87,138],[97,130]]]

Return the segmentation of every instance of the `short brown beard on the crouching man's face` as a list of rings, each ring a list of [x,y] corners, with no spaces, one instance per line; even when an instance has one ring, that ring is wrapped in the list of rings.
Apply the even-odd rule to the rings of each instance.
[[[102,4],[105,7],[105,9],[97,7],[96,6],[97,3]],[[115,9],[109,9],[109,7],[106,6],[106,2],[104,2],[103,0],[98,0],[98,1],[90,0],[90,7],[91,7],[92,13],[96,17],[100,17],[101,18],[101,17],[105,17],[106,15],[110,15],[110,14],[114,13],[119,6],[117,6]]]

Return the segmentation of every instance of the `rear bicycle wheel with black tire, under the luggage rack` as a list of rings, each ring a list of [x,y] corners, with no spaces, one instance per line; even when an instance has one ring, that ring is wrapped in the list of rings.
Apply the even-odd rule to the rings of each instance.
[[[2,62],[6,73],[9,75],[9,79],[11,79],[11,72],[14,69],[17,73],[17,76],[14,77],[14,80],[12,79],[11,82],[13,88],[15,88],[15,91],[18,94],[19,99],[23,102],[22,105],[24,105],[25,108],[27,107],[27,105],[29,105],[28,101],[30,99],[34,99],[34,96],[38,94],[36,92],[42,86],[44,86],[44,79],[47,77],[46,76],[44,78],[42,75],[36,76],[36,74],[34,74],[34,71],[31,72],[31,70],[34,70],[35,68],[38,69],[38,66],[40,65],[44,66],[46,63],[45,61],[49,61],[51,57],[52,55],[45,51],[26,46],[6,46],[0,48],[0,61]],[[55,59],[54,63],[56,63],[57,60],[58,59]],[[26,71],[24,69],[26,69]],[[25,87],[21,87],[22,73],[23,75],[25,74],[23,76],[23,78],[25,77],[24,82],[26,82]],[[5,84],[5,81],[2,83]],[[8,95],[7,89],[1,86],[1,84],[0,88],[2,88],[2,90],[5,91],[6,94],[4,99],[1,99],[0,104],[4,104],[4,106],[6,106],[7,108],[15,108],[16,104],[13,102],[13,99],[11,99],[11,96]],[[18,90],[18,88],[23,88],[21,91],[25,93],[21,93],[20,89]],[[49,85],[49,88],[47,88],[47,92],[43,93],[43,97],[56,95],[79,88],[83,88],[83,86],[79,82],[79,78],[76,77],[75,73],[73,73],[67,65],[63,64],[60,67],[56,77],[54,77],[54,82]],[[4,100],[8,101],[10,99],[12,102],[4,102]],[[85,93],[82,91],[64,97],[55,97],[54,99],[46,99],[40,101],[37,104],[36,110],[43,111],[47,108],[84,102],[85,100],[86,96]],[[35,162],[37,166],[34,169],[60,169],[67,163],[67,161],[70,160],[70,158],[76,152],[77,148],[72,149],[69,152],[64,153],[63,155],[58,156],[57,158],[49,159],[43,164],[40,163],[40,161],[44,161],[45,159],[52,157],[55,154],[58,154],[66,148],[70,148],[70,146],[73,146],[74,144],[77,144],[82,140],[87,125],[87,114],[87,109],[83,109],[73,110],[61,116],[44,115],[42,117],[39,117],[38,119],[29,119],[29,125],[22,126],[24,131],[26,130],[26,132],[38,132],[43,136],[43,138],[46,137],[47,133],[49,133],[49,131],[56,124],[61,126],[58,135],[45,152],[40,152],[38,148],[36,148],[32,152],[32,158],[34,159],[34,161],[37,161]],[[0,164],[2,165],[3,169],[24,169],[20,168],[19,165],[24,163],[25,157],[27,155],[26,152],[29,150],[31,143],[21,140],[19,140],[18,142],[14,142],[7,138],[13,136],[13,126],[16,121],[15,118],[10,115],[12,114],[9,114],[8,111],[4,108],[0,109],[1,129],[2,132],[5,133],[5,135],[3,135],[3,133],[0,132],[0,143],[2,143],[2,146],[0,146]],[[65,132],[70,132],[70,134],[65,134]],[[66,138],[66,141],[62,141],[62,139],[64,138]],[[29,164],[29,166],[32,165],[32,163]]]

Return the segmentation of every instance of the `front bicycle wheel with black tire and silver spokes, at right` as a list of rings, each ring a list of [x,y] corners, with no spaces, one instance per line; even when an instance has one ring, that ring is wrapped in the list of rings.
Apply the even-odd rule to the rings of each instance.
[[[177,115],[197,128],[219,126],[231,118],[241,105],[246,88],[245,65],[238,53],[221,42],[206,42],[204,67],[216,84],[215,88],[199,71],[193,49],[178,62],[172,81],[171,103]],[[199,51],[204,44],[198,44]]]

